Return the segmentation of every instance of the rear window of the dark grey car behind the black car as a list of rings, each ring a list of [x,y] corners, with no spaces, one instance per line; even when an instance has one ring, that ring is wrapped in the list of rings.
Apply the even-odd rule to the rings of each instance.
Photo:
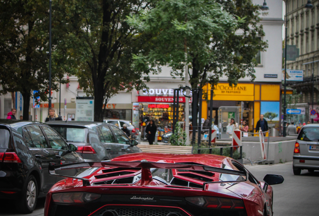
[[[87,128],[79,127],[62,127],[50,125],[68,142],[86,142],[87,141]]]

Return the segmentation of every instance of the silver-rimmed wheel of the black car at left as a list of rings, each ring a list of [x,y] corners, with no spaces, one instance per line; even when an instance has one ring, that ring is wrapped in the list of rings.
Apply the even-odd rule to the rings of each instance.
[[[31,213],[37,205],[38,184],[33,175],[30,175],[22,190],[20,199],[17,202],[17,209],[21,213]]]

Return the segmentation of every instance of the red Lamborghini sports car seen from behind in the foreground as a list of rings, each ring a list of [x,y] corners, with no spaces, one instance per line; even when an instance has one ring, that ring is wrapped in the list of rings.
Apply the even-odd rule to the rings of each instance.
[[[80,168],[76,176],[65,175]],[[271,184],[236,160],[211,154],[133,153],[108,161],[53,165],[68,178],[49,191],[45,216],[272,215]]]

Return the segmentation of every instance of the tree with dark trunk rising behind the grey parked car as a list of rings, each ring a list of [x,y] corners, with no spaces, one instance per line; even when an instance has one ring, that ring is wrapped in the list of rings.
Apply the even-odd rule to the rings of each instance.
[[[129,26],[126,16],[149,8],[145,0],[78,0],[53,2],[59,32],[57,58],[70,56],[80,86],[94,96],[94,120],[103,120],[103,103],[119,90],[141,89],[143,72],[133,70],[133,54],[147,35]],[[105,107],[105,106],[104,106]]]

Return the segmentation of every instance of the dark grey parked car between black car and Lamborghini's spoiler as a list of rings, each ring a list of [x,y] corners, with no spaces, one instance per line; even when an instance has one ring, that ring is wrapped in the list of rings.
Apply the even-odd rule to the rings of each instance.
[[[129,139],[117,126],[94,121],[49,121],[52,128],[69,143],[78,146],[77,152],[85,161],[101,161],[125,153],[142,152],[137,141]]]

